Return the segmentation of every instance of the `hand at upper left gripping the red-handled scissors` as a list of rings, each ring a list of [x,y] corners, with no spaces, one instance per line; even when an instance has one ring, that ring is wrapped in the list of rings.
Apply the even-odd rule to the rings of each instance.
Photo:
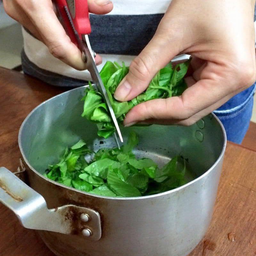
[[[49,48],[52,55],[78,70],[86,69],[79,49],[57,19],[51,0],[3,0],[5,12],[27,28]],[[106,14],[113,9],[109,0],[88,0],[89,11]],[[101,63],[96,55],[95,62]]]

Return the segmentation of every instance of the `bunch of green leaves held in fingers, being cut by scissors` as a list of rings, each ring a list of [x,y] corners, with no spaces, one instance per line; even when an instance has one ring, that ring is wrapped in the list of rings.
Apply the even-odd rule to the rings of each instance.
[[[118,123],[122,124],[125,114],[141,102],[181,95],[187,88],[184,76],[187,73],[188,65],[189,61],[180,63],[175,68],[172,67],[171,63],[167,64],[152,79],[146,91],[130,101],[119,102],[115,100],[113,95],[117,86],[127,75],[129,67],[126,67],[124,63],[120,66],[116,62],[107,61],[100,71],[100,77],[108,93]],[[97,124],[98,135],[104,138],[112,135],[115,132],[115,126],[100,92],[97,92],[90,84],[89,88],[85,90],[82,100],[84,100],[82,116]]]

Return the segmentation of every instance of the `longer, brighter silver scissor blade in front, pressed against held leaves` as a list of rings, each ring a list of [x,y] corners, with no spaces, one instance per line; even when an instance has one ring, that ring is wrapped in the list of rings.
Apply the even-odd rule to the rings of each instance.
[[[106,105],[108,107],[108,110],[109,110],[109,113],[110,113],[111,118],[113,120],[113,123],[116,127],[116,132],[119,136],[120,141],[124,142],[121,131],[120,131],[120,128],[119,128],[119,125],[118,125],[117,120],[116,120],[114,110],[113,110],[113,108],[111,106],[111,103],[109,101],[107,91],[104,87],[104,84],[103,84],[101,78],[100,78],[100,74],[99,74],[99,71],[98,71],[98,69],[96,67],[96,64],[94,62],[94,58],[92,57],[93,52],[92,52],[92,48],[91,48],[91,45],[90,45],[90,42],[89,42],[89,38],[88,38],[87,35],[82,35],[82,39],[87,45],[87,47],[85,45],[83,47],[84,48],[83,51],[86,53],[86,58],[87,58],[87,61],[86,61],[87,69],[88,69],[88,71],[90,72],[90,74],[92,76],[93,83],[96,85],[97,89],[102,94],[102,96],[103,96],[103,98],[106,102]]]

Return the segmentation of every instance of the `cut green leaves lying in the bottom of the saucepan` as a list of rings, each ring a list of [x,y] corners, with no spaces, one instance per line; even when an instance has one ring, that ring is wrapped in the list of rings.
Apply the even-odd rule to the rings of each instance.
[[[163,168],[149,158],[137,159],[132,149],[138,137],[131,132],[127,144],[92,152],[80,140],[67,148],[60,162],[50,165],[45,177],[66,186],[100,196],[145,196],[177,188],[186,183],[185,161],[172,158]],[[88,163],[85,158],[91,158]]]

